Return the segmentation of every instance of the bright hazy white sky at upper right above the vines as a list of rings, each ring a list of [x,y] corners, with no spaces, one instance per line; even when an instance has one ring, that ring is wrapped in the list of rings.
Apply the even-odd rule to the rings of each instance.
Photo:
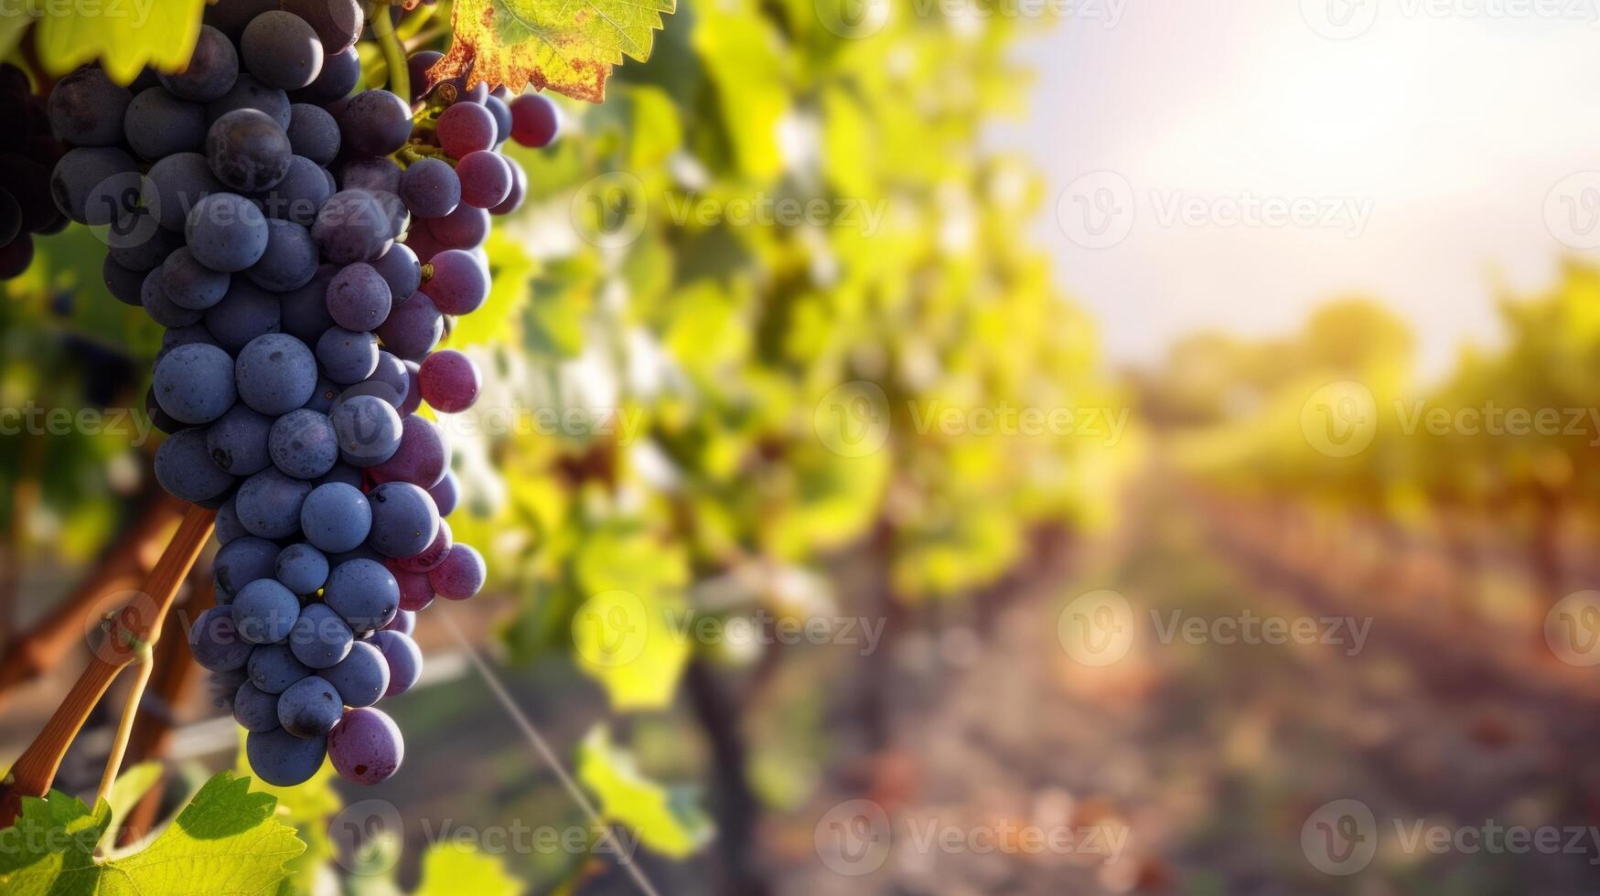
[[[1376,19],[1333,40],[1309,24],[1323,2]],[[1600,171],[1600,0],[1510,3],[1560,14],[1464,14],[1506,0],[1442,14],[1421,0],[1080,0],[1078,18],[1030,40],[1032,114],[995,144],[1026,147],[1053,200],[1094,171],[1131,187],[1131,230],[1110,248],[1075,243],[1054,208],[1038,224],[1110,358],[1157,358],[1197,328],[1283,333],[1352,293],[1410,320],[1426,376],[1464,341],[1493,344],[1498,286],[1541,288],[1573,251],[1546,226],[1552,187]],[[1338,227],[1171,222],[1179,198],[1246,192],[1357,211]]]

